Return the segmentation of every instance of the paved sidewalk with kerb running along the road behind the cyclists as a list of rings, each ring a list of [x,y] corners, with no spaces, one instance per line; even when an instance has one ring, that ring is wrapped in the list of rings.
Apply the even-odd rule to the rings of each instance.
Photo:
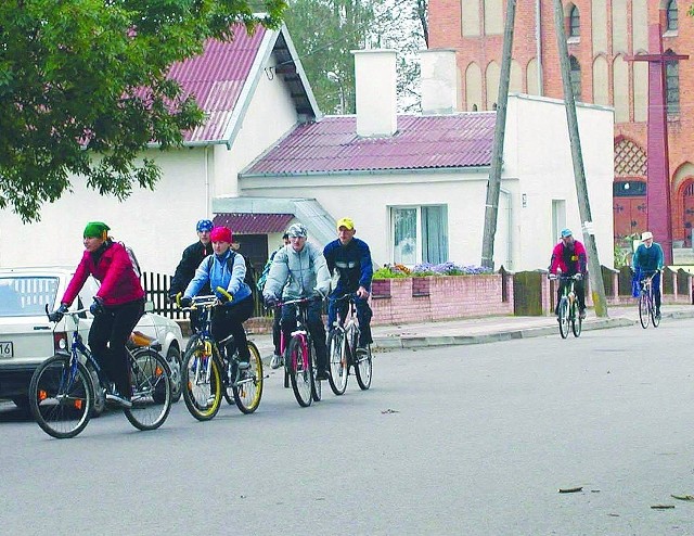
[[[583,331],[621,328],[639,322],[639,309],[635,305],[609,307],[608,318],[596,318],[592,309],[587,311]],[[694,318],[692,305],[664,305],[660,311],[664,322]],[[483,344],[554,334],[558,336],[554,316],[484,317],[444,322],[374,326],[371,330],[372,346],[375,350]],[[250,334],[249,339],[256,343],[264,358],[272,355],[272,337],[269,334]]]

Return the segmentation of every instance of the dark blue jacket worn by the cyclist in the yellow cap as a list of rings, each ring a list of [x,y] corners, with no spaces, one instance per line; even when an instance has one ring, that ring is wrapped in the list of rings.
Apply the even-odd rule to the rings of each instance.
[[[347,245],[334,240],[323,248],[323,256],[333,276],[333,297],[357,292],[360,286],[371,292],[373,263],[363,240],[352,238]]]

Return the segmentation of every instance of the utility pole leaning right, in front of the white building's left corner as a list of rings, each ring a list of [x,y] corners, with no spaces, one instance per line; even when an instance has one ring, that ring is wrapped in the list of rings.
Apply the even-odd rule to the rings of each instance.
[[[487,202],[485,204],[485,230],[481,242],[481,266],[494,269],[494,234],[499,216],[499,191],[501,190],[501,165],[503,164],[503,139],[506,128],[506,106],[509,104],[509,80],[511,78],[511,55],[513,53],[513,26],[516,18],[516,0],[506,2],[506,21],[503,30],[503,52],[499,94],[497,95],[497,123],[494,124],[494,144],[491,149],[491,169],[487,181]]]

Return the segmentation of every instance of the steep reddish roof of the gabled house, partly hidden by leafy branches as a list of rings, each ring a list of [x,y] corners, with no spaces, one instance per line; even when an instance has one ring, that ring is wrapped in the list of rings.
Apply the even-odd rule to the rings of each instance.
[[[266,35],[257,26],[248,36],[242,25],[234,27],[231,42],[208,40],[204,52],[171,66],[169,77],[176,79],[183,93],[193,93],[207,120],[198,128],[185,132],[184,141],[223,140],[231,126],[231,117],[239,95],[246,82]]]

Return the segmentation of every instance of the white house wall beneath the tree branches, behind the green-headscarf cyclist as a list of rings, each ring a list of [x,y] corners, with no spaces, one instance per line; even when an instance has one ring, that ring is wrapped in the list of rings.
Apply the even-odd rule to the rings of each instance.
[[[76,266],[85,225],[100,220],[134,250],[144,271],[172,273],[183,247],[197,238],[195,222],[208,216],[205,149],[150,151],[146,156],[156,157],[162,180],[154,191],[137,188],[123,203],[73,178],[75,192],[44,205],[39,222],[24,225],[10,210],[0,210],[0,266]]]

